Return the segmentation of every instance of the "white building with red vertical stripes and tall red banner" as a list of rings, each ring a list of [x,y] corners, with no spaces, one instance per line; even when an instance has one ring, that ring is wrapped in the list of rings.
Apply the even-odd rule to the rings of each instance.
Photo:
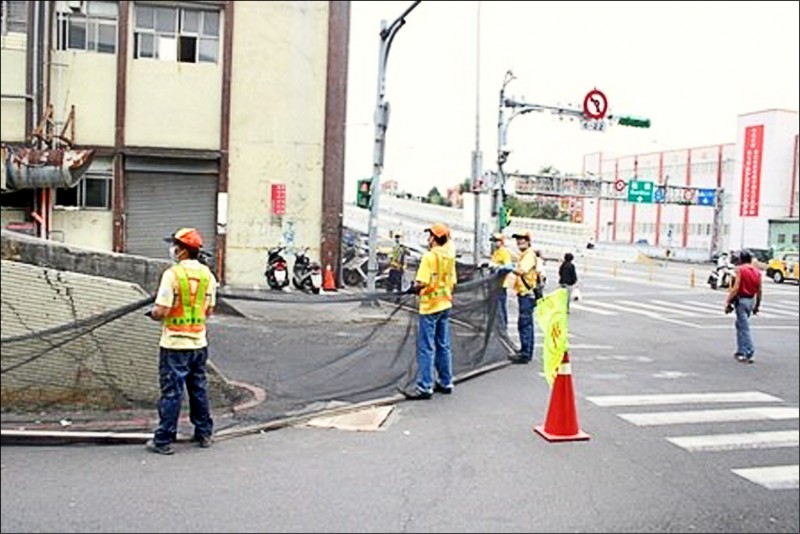
[[[766,249],[773,244],[770,220],[797,220],[798,114],[767,110],[740,115],[735,143],[619,157],[587,154],[584,173],[620,184],[617,198],[584,199],[583,220],[597,241],[710,253]],[[632,180],[668,186],[669,194],[678,196],[666,202],[629,202]],[[716,202],[702,202],[695,188],[713,190],[709,194]]]

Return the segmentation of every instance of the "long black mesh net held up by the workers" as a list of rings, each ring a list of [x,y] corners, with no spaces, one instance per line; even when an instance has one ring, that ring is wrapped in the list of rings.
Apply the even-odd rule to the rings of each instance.
[[[495,327],[499,287],[499,279],[489,275],[456,287],[450,316],[456,382],[508,356],[509,341]],[[21,304],[6,292],[2,296],[4,413],[27,404],[57,414],[80,405],[76,399],[155,413],[158,325],[142,313],[152,297],[77,314],[55,327],[21,329]],[[374,401],[413,387],[419,320],[414,295],[223,290],[219,300],[238,313],[217,314],[208,324],[212,371],[222,377],[212,409],[226,415],[217,417],[218,429]],[[14,327],[8,328],[14,314]],[[144,346],[143,338],[143,354],[126,352],[126,346]],[[140,358],[150,367],[131,373]],[[74,377],[65,381],[64,369]],[[81,372],[91,380],[82,380]]]

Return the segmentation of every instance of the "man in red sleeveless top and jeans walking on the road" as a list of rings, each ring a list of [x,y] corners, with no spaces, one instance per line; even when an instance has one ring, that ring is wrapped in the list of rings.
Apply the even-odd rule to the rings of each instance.
[[[753,363],[755,347],[750,335],[750,315],[761,307],[761,271],[753,265],[752,253],[745,249],[739,253],[736,277],[725,299],[725,313],[736,312],[736,353],[740,362]]]

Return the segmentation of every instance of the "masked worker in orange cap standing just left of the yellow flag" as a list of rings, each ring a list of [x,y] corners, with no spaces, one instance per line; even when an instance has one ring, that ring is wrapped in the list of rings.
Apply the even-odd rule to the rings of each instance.
[[[513,271],[516,275],[514,292],[517,294],[517,304],[519,305],[517,329],[520,350],[509,359],[512,363],[526,364],[533,359],[533,311],[536,308],[535,289],[539,280],[536,269],[536,253],[531,248],[531,232],[524,231],[514,234],[513,237],[517,240],[517,248],[520,252]]]

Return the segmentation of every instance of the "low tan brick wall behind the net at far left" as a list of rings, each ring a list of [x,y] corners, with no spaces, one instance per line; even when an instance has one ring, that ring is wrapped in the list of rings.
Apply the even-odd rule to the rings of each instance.
[[[160,330],[136,306],[141,287],[7,260],[0,274],[3,412],[155,407]],[[213,366],[208,377],[212,405],[229,406],[234,388]]]

